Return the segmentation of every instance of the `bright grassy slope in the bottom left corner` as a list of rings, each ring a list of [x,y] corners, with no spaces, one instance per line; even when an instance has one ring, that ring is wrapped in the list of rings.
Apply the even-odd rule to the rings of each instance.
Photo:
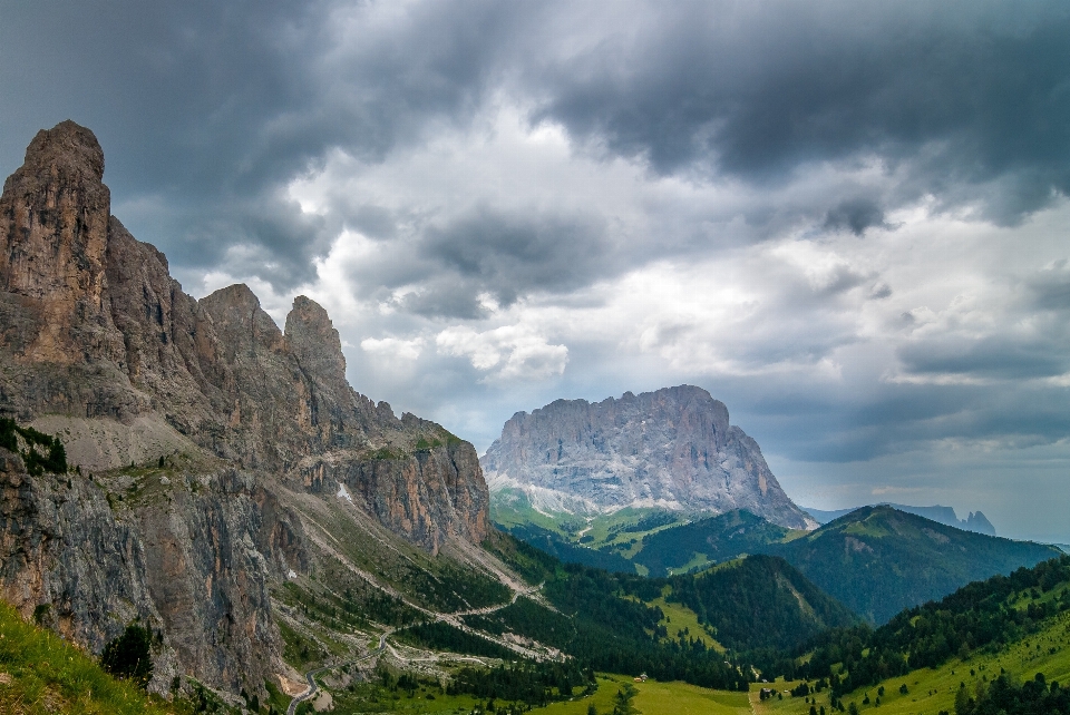
[[[55,634],[0,601],[0,713],[165,715],[193,712],[117,680]]]

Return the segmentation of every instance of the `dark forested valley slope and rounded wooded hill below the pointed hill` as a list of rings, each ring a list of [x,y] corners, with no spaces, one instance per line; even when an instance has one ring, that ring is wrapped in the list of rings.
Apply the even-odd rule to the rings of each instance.
[[[755,556],[700,575],[651,579],[561,564],[506,535],[494,548],[528,579],[544,585],[543,592],[560,617],[517,601],[493,617],[469,623],[489,630],[528,634],[587,658],[596,669],[646,670],[659,679],[701,685],[711,678],[678,655],[690,653],[697,663],[723,660],[717,648],[707,652],[704,635],[739,655],[759,648],[797,647],[825,628],[856,621],[849,610],[777,557]],[[687,607],[706,634],[680,633],[683,624],[663,619],[664,613],[655,606],[659,601]],[[644,655],[631,657],[629,653]],[[673,665],[642,662],[645,657],[664,657]]]

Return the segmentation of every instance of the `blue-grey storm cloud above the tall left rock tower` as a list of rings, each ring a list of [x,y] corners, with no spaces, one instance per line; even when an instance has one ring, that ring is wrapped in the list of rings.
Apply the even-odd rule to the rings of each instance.
[[[13,170],[38,128],[71,117],[100,138],[116,197],[165,207],[128,221],[136,235],[186,266],[249,245],[286,288],[329,244],[275,205],[281,187],[332,147],[382,160],[428,120],[474,111],[508,16],[470,10],[364,28],[335,2],[4,2],[0,156]]]

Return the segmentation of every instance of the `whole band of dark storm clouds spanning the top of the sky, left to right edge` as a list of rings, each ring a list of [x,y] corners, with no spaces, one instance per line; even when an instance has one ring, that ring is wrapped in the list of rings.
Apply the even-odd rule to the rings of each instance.
[[[265,208],[288,180],[332,148],[387,160],[437,124],[464,126],[496,92],[661,174],[761,184],[813,161],[908,165],[886,196],[819,208],[828,229],[883,226],[925,193],[1012,223],[1070,188],[1070,17],[1057,3],[0,8],[9,170],[38,128],[71,116],[113,158],[117,197],[166,204],[144,223],[124,217],[136,235],[150,229],[140,237],[188,267],[249,244],[279,267],[263,277],[280,290],[312,275],[337,228]],[[446,248],[466,280],[510,300],[499,266]]]

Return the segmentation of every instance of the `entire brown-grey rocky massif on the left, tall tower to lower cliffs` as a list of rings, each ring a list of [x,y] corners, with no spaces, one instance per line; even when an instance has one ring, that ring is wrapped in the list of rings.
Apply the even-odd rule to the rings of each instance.
[[[317,558],[294,493],[346,486],[437,554],[486,537],[486,483],[470,444],[350,388],[313,301],[283,333],[244,285],[185,294],[110,216],[103,175],[65,121],[0,197],[0,417],[81,469],[30,478],[0,454],[0,592],[93,650],[142,618],[164,634],[158,673],[262,692],[284,667],[269,587]]]

